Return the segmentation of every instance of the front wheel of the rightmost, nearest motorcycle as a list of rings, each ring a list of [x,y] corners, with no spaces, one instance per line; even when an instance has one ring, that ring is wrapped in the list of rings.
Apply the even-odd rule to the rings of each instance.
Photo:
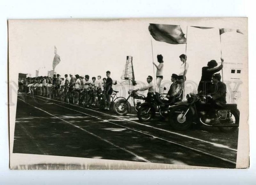
[[[168,122],[175,130],[187,130],[191,124],[191,113],[188,111],[188,113],[184,116],[186,111],[188,110],[187,106],[178,106],[174,107],[168,116]],[[183,118],[184,116],[184,118]]]

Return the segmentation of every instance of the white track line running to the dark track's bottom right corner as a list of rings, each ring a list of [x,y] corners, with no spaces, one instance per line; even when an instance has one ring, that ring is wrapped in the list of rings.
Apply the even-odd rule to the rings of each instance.
[[[37,99],[39,99],[39,98],[37,98]],[[39,100],[42,100],[42,99],[39,99]],[[42,100],[42,101],[44,101],[44,100]],[[59,106],[59,107],[63,107],[63,108],[69,109],[69,110],[76,111],[76,112],[81,113],[81,114],[84,114],[84,115],[88,115],[88,116],[94,117],[94,118],[99,119],[99,120],[102,120],[102,121],[104,121],[104,122],[109,122],[109,121],[104,120],[104,119],[101,119],[101,118],[99,118],[99,117],[92,116],[92,115],[89,115],[89,114],[86,114],[86,113],[83,113],[83,112],[80,112],[80,111],[77,111],[77,110],[74,110],[74,109],[71,109],[71,108],[68,108],[68,107],[64,107],[64,106],[58,105],[58,104],[56,104],[56,103],[53,103],[53,104],[54,104],[54,105],[57,105],[57,106]],[[32,106],[33,106],[33,105],[32,105]],[[49,114],[50,114],[50,113],[49,113]],[[54,115],[53,115],[53,116],[54,116]],[[119,124],[117,124],[117,123],[113,123],[113,122],[109,122],[109,123],[112,123],[112,124],[117,125],[117,126],[119,126],[119,127],[124,127],[124,128],[126,128],[126,129],[130,129],[130,130],[133,130],[133,131],[139,132],[139,133],[141,133],[141,134],[148,135],[148,136],[153,137],[153,138],[157,138],[157,139],[160,139],[160,140],[166,141],[166,142],[168,142],[168,143],[172,143],[172,144],[176,144],[176,145],[179,145],[179,146],[185,147],[185,148],[188,148],[188,149],[190,149],[190,150],[193,150],[193,151],[196,151],[196,152],[199,152],[199,153],[203,153],[203,154],[205,154],[205,155],[209,155],[209,156],[214,157],[214,158],[217,158],[217,159],[221,159],[221,160],[224,160],[224,161],[227,161],[227,162],[230,162],[230,163],[236,164],[236,162],[235,162],[235,161],[232,161],[232,160],[229,160],[229,159],[225,159],[225,158],[222,158],[222,157],[220,157],[220,156],[213,155],[213,154],[211,154],[211,153],[204,152],[204,151],[201,151],[201,150],[198,150],[198,149],[195,149],[195,148],[192,148],[192,147],[189,147],[189,146],[183,145],[183,144],[179,144],[179,143],[176,143],[176,142],[173,142],[173,141],[170,141],[170,140],[167,140],[167,139],[161,138],[161,137],[157,137],[157,136],[154,136],[154,135],[151,135],[151,134],[148,134],[148,133],[142,132],[142,131],[140,131],[140,130],[131,129],[131,128],[129,128],[129,127],[125,127],[125,126],[123,126],[123,125],[119,125]]]

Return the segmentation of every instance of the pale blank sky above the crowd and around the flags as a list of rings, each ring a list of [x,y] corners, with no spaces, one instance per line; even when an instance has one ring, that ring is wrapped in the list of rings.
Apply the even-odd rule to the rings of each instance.
[[[188,25],[180,25],[186,44],[168,44],[155,41],[149,31],[150,20],[63,20],[22,22],[21,29],[14,31],[15,55],[19,59],[19,71],[35,76],[46,76],[52,70],[54,46],[60,55],[60,63],[55,71],[62,77],[64,74],[89,75],[90,79],[111,71],[113,80],[121,81],[126,56],[133,57],[135,80],[146,83],[148,75],[154,77],[152,64],[152,48],[154,61],[157,54],[164,56],[164,80],[169,80],[172,73],[178,73],[181,61],[179,56],[187,54],[189,64],[187,80],[197,84],[201,78],[201,69],[210,60],[220,62],[220,50],[224,58],[224,80],[230,79],[230,66],[243,63],[247,56],[246,37],[236,32],[220,35],[219,28],[199,29]],[[201,25],[200,25],[201,26]],[[244,32],[243,28],[241,29]],[[247,34],[247,33],[246,33]],[[14,55],[14,54],[12,54]],[[232,63],[232,64],[228,64]],[[45,68],[44,68],[45,67]],[[241,66],[240,66],[241,67]],[[243,68],[243,67],[242,67]],[[156,68],[155,68],[156,72]],[[188,91],[189,92],[189,91]]]

